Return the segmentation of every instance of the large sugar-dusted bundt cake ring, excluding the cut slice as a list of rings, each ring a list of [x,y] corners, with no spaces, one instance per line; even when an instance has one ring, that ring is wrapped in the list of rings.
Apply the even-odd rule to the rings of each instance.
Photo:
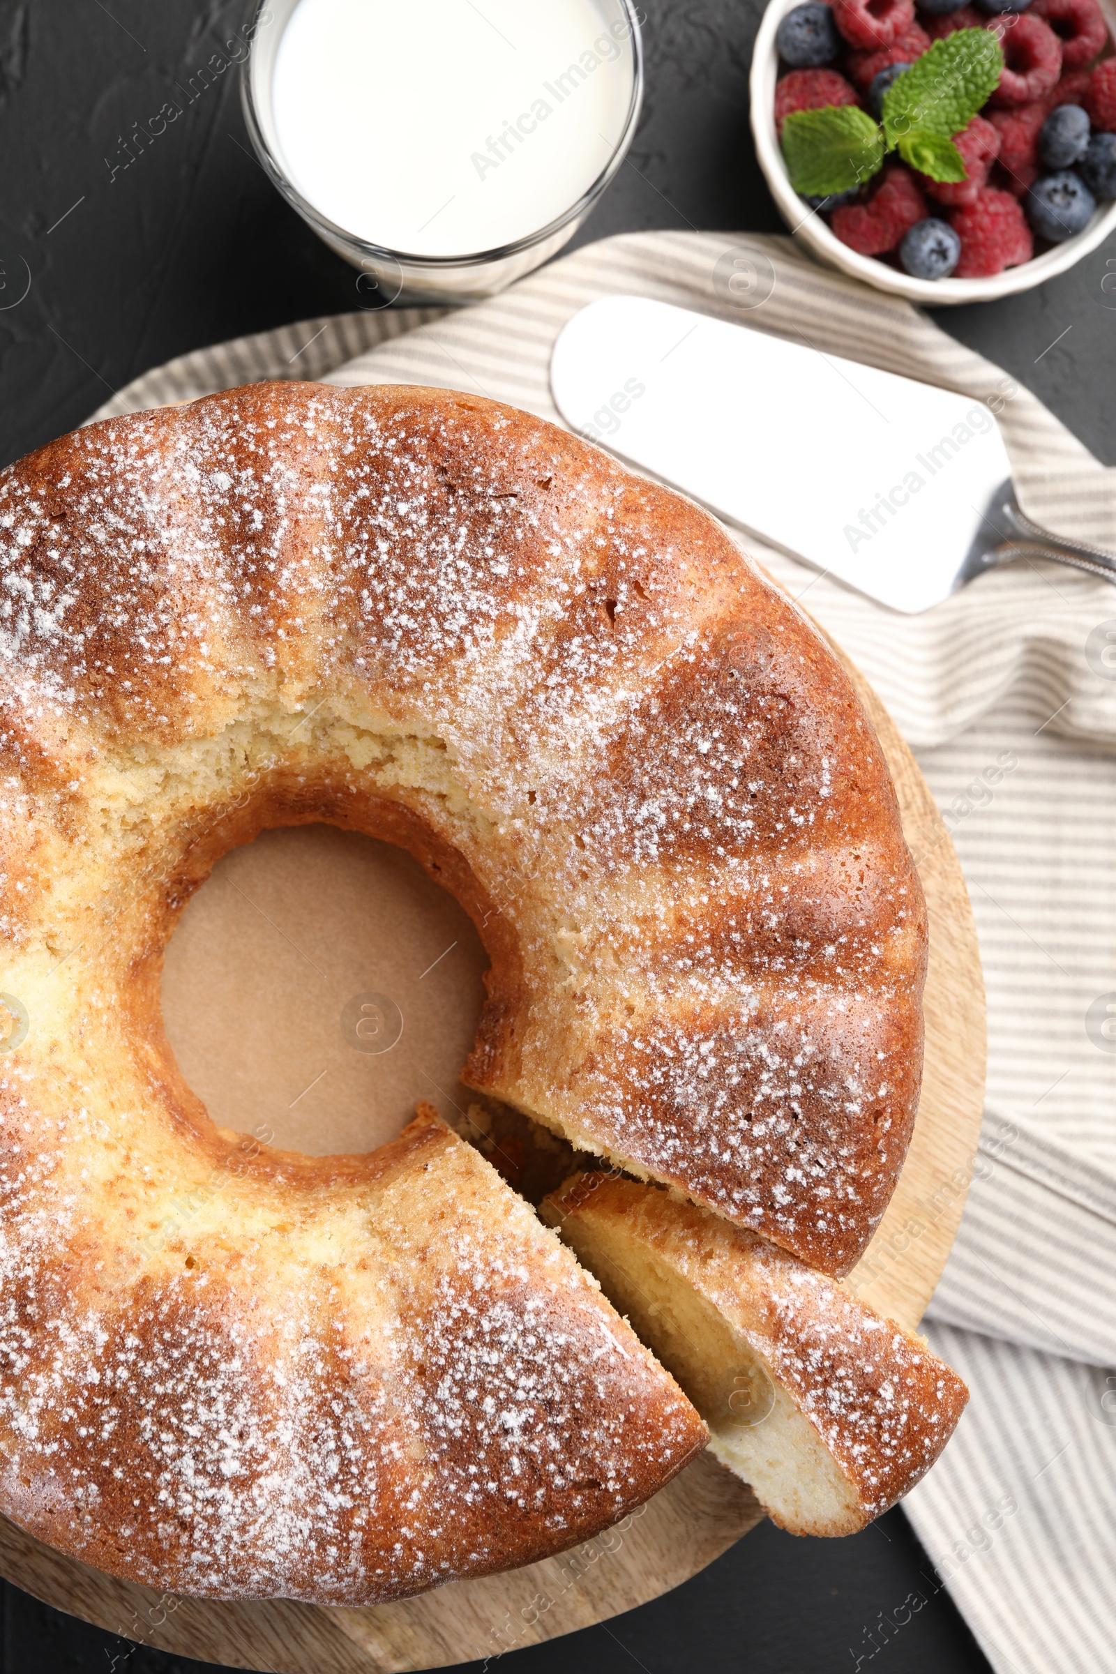
[[[704,1440],[450,1135],[212,1127],[162,949],[264,827],[388,839],[462,901],[477,1090],[817,1267],[870,1239],[925,963],[878,743],[716,524],[582,442],[273,383],[38,450],[0,474],[0,1510],[33,1533],[368,1602],[582,1540]]]

